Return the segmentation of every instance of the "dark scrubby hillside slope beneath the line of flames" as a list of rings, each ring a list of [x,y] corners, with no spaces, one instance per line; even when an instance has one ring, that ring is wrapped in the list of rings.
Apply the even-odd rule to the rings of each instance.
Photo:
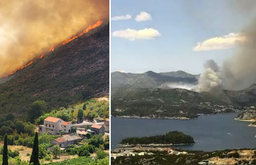
[[[105,25],[104,25],[105,24]],[[24,116],[34,101],[49,112],[109,95],[109,23],[54,48],[29,66],[0,78],[0,114]]]

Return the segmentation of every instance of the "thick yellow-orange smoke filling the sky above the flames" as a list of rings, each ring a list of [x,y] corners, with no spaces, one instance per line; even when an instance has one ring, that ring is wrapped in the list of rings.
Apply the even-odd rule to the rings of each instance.
[[[82,32],[102,16],[109,19],[108,0],[0,1],[0,76]]]

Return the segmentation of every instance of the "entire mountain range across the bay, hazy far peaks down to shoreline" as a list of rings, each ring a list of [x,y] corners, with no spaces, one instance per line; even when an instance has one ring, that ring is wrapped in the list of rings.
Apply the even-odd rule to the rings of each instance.
[[[244,90],[198,93],[168,84],[196,85],[199,75],[186,72],[111,74],[111,114],[139,117],[196,117],[197,114],[243,111],[256,105],[256,85]]]

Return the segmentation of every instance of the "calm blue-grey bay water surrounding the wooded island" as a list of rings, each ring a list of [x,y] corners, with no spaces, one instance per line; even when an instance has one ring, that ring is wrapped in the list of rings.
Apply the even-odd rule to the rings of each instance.
[[[249,122],[235,121],[237,113],[201,116],[195,120],[111,118],[111,149],[126,137],[162,135],[178,130],[191,135],[197,143],[179,146],[185,150],[224,150],[256,148],[256,127]]]

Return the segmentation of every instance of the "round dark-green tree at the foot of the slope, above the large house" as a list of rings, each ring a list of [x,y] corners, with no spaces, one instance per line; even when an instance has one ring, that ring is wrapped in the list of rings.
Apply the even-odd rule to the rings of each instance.
[[[43,115],[43,112],[46,111],[47,109],[47,104],[45,101],[35,101],[32,104],[30,104],[28,108],[28,116],[29,116],[29,121],[34,122],[35,119]]]

